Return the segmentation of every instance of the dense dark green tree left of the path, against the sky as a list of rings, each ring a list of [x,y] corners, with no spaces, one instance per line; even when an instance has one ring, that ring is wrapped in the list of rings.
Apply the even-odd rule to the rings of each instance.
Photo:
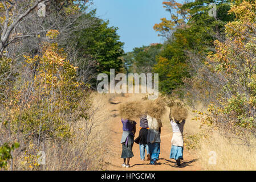
[[[85,14],[83,18],[94,19],[95,24],[90,28],[79,31],[76,36],[76,49],[78,58],[83,59],[90,55],[96,60],[96,73],[109,74],[110,69],[120,71],[123,67],[123,42],[120,42],[120,36],[117,35],[116,27],[109,27],[109,21],[95,18],[95,11],[91,14]]]

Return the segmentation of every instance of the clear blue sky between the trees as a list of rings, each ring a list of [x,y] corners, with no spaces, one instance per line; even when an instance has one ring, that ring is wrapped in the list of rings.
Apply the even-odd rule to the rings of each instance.
[[[164,39],[153,30],[160,18],[168,18],[169,13],[162,7],[162,0],[94,0],[97,16],[109,20],[110,26],[118,27],[117,33],[124,42],[124,51],[135,47],[162,43]]]

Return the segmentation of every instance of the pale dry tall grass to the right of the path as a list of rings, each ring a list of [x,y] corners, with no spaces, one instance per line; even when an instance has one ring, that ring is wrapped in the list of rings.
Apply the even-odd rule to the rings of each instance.
[[[256,170],[255,136],[249,133],[238,136],[214,126],[201,126],[200,129],[200,121],[193,121],[193,117],[190,109],[184,127],[184,142],[185,147],[197,155],[202,169]]]

